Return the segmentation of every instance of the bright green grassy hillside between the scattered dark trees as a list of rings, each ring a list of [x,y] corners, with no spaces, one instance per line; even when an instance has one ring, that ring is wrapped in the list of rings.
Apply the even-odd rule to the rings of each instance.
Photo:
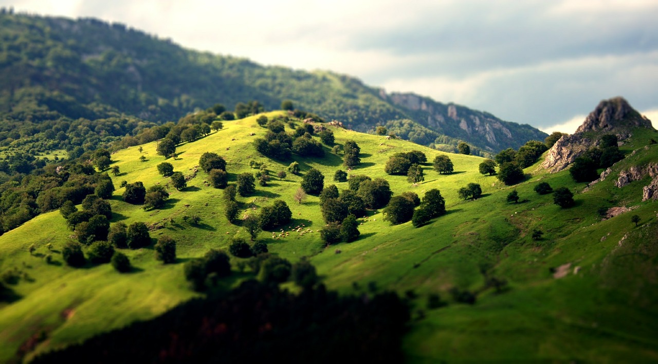
[[[276,113],[268,113],[272,117]],[[513,187],[504,186],[495,176],[478,173],[480,157],[449,154],[455,172],[440,175],[430,165],[424,166],[425,182],[413,187],[405,176],[384,173],[384,163],[400,151],[421,150],[428,161],[442,153],[402,140],[333,129],[336,143],[355,140],[361,147],[361,165],[351,174],[384,177],[395,195],[438,188],[446,200],[447,214],[421,228],[410,222],[391,226],[381,211],[370,211],[359,219],[361,238],[350,244],[324,247],[317,232],[324,226],[318,198],[309,196],[303,203],[293,200],[301,176],[288,174],[284,180],[274,178],[266,187],[257,186],[255,194],[238,197],[241,215],[255,213],[273,199],[283,199],[293,213],[291,227],[304,224],[313,230],[299,236],[272,238],[262,232],[259,240],[268,249],[291,261],[311,257],[329,288],[341,292],[365,292],[378,288],[396,290],[415,296],[414,321],[405,340],[410,361],[436,362],[544,359],[547,361],[653,361],[658,359],[655,290],[658,228],[655,202],[640,202],[642,186],[633,182],[624,188],[613,185],[619,170],[631,165],[655,161],[658,145],[647,145],[656,132],[638,131],[632,143],[622,151],[638,149],[613,167],[613,173],[590,191],[581,193],[584,184],[572,182],[567,171],[547,174],[538,163],[525,170],[528,178]],[[249,134],[255,133],[255,136]],[[193,143],[178,147],[179,157],[168,159],[174,170],[192,174],[199,157],[215,151],[227,161],[230,181],[241,172],[255,172],[249,161],[259,161],[276,174],[290,161],[272,161],[260,156],[251,141],[265,134],[255,117],[225,122],[224,128]],[[114,185],[122,180],[141,181],[147,187],[166,184],[157,173],[164,158],[156,155],[156,143],[130,147],[112,155],[113,165],[122,174],[113,177]],[[326,147],[325,147],[326,148]],[[328,148],[324,159],[293,157],[302,171],[315,167],[325,175],[325,186],[332,184],[342,160]],[[139,161],[144,155],[147,160]],[[0,361],[14,357],[16,351],[36,353],[84,340],[89,336],[118,328],[135,320],[155,317],[197,294],[188,288],[182,273],[185,261],[199,257],[210,247],[226,248],[229,238],[247,237],[239,226],[224,218],[221,190],[205,186],[207,174],[199,170],[183,191],[170,189],[170,199],[162,209],[144,211],[141,206],[124,203],[118,188],[111,200],[112,222],[126,224],[143,221],[149,224],[170,221],[165,228],[151,232],[172,236],[177,242],[178,263],[162,265],[155,261],[153,247],[126,253],[136,271],[119,274],[109,265],[73,269],[62,264],[57,254],[70,240],[61,215],[55,211],[0,236],[0,272],[16,267],[21,274],[18,284],[10,286],[20,297],[0,307]],[[552,195],[538,195],[532,188],[538,181],[553,188],[567,186],[574,192],[576,206],[561,209]],[[469,182],[482,186],[483,197],[475,201],[460,200],[459,188]],[[347,183],[338,183],[339,190]],[[519,192],[519,203],[507,203],[511,190]],[[599,207],[634,207],[607,221],[601,221]],[[642,218],[640,226],[630,222],[630,215]],[[198,215],[201,222],[188,224],[184,215]],[[170,220],[172,219],[172,220]],[[530,232],[540,228],[544,238],[534,241]],[[626,238],[624,238],[624,236]],[[53,244],[53,252],[46,245]],[[36,244],[30,255],[28,247]],[[340,253],[336,253],[340,249]],[[43,255],[51,253],[55,264],[48,265]],[[240,259],[232,258],[234,275],[226,285],[234,284],[249,270],[238,273]],[[551,268],[570,263],[563,278],[553,278]],[[578,267],[578,269],[576,269]],[[577,271],[577,273],[576,273]],[[486,278],[495,276],[509,282],[503,292],[485,286]],[[290,286],[292,288],[292,286]],[[449,290],[457,287],[477,296],[474,305],[457,303]],[[447,306],[428,309],[430,294],[440,295]],[[45,340],[33,340],[44,332]],[[29,355],[28,355],[29,357]]]

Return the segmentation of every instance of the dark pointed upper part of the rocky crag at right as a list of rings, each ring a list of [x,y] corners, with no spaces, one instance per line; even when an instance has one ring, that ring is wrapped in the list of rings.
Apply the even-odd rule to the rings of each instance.
[[[580,132],[613,130],[620,127],[651,128],[649,119],[640,115],[623,97],[603,100],[596,109],[578,126],[576,134]]]

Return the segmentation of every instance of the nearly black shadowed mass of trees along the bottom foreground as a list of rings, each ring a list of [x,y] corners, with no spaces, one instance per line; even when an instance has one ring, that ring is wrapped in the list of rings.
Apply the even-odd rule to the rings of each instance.
[[[33,362],[401,362],[408,320],[407,304],[389,292],[339,296],[320,285],[293,295],[247,280]]]

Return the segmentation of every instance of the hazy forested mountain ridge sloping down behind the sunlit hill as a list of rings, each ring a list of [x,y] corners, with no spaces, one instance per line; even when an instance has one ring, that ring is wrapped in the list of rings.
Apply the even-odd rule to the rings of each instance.
[[[357,131],[386,126],[403,139],[446,151],[455,151],[463,140],[474,153],[491,154],[546,137],[531,126],[467,107],[407,93],[388,95],[350,76],[192,51],[93,18],[4,12],[0,41],[0,118],[5,120],[0,142],[11,130],[26,125],[41,130],[42,122],[59,118],[161,123],[215,103],[232,109],[258,100],[266,109],[278,109],[285,99]],[[20,124],[11,124],[16,121]],[[104,127],[106,134],[99,136],[136,132],[121,121],[114,124],[117,128]]]

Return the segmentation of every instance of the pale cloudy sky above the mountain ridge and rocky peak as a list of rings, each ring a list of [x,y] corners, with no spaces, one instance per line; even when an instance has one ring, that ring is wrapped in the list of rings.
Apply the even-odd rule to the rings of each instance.
[[[622,95],[658,120],[658,1],[0,0],[191,49],[332,70],[546,132]],[[658,121],[653,122],[658,126]]]

